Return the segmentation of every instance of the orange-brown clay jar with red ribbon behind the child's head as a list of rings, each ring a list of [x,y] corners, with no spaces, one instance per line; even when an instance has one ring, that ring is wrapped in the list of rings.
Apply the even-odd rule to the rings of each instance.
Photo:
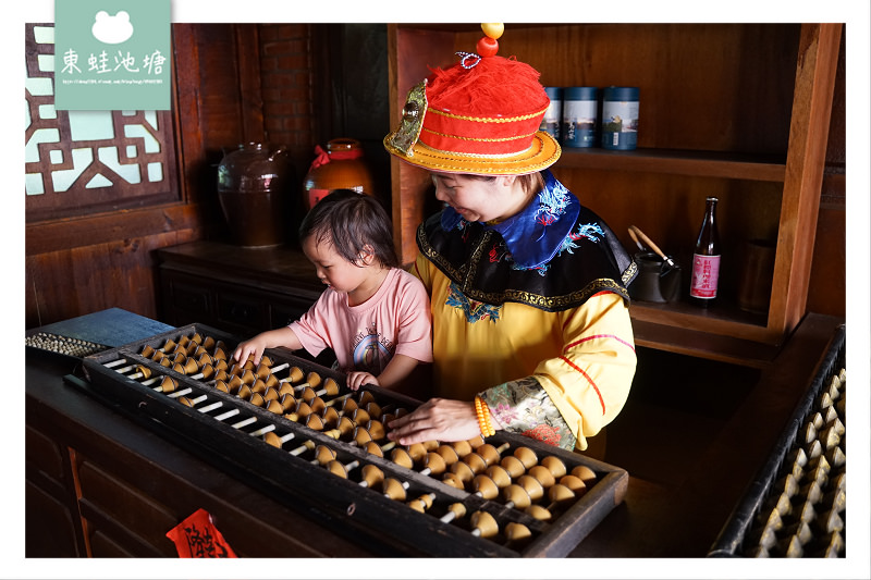
[[[363,156],[360,141],[351,138],[331,139],[327,150],[315,147],[317,157],[303,182],[306,211],[335,189],[353,189],[375,196],[372,174]]]

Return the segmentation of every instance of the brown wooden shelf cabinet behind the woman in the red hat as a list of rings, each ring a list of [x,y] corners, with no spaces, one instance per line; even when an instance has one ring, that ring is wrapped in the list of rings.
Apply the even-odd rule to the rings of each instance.
[[[475,25],[390,25],[391,119],[428,66],[456,62]],[[564,148],[552,168],[633,251],[637,225],[684,268],[709,195],[720,198],[722,299],[701,310],[636,301],[639,345],[760,366],[805,314],[841,24],[506,25],[503,57],[544,86],[640,88],[638,149]],[[403,261],[431,211],[428,174],[392,160],[394,233]],[[737,307],[746,240],[776,242],[766,314]],[[684,292],[686,295],[686,291]]]

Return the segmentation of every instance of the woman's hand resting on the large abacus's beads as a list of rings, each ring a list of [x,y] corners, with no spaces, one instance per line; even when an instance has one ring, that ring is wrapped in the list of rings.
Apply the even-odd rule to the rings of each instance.
[[[400,445],[425,441],[466,441],[481,434],[475,404],[431,398],[413,412],[388,423],[388,439]]]

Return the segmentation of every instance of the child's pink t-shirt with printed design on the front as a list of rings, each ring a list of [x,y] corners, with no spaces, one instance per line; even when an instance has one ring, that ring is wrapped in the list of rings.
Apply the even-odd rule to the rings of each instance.
[[[381,373],[393,355],[432,361],[432,320],[424,284],[400,268],[388,272],[375,295],[357,306],[331,287],[299,320],[289,324],[310,355],[327,347],[339,370]]]

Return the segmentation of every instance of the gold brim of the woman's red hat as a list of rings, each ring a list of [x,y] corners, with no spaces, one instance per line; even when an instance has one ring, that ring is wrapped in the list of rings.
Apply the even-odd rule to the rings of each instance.
[[[391,134],[392,135],[392,134]],[[384,148],[406,163],[442,173],[471,173],[476,175],[525,175],[554,164],[562,149],[549,133],[538,131],[526,151],[513,156],[463,155],[440,151],[416,143],[408,155],[393,147],[391,135],[384,137]]]

